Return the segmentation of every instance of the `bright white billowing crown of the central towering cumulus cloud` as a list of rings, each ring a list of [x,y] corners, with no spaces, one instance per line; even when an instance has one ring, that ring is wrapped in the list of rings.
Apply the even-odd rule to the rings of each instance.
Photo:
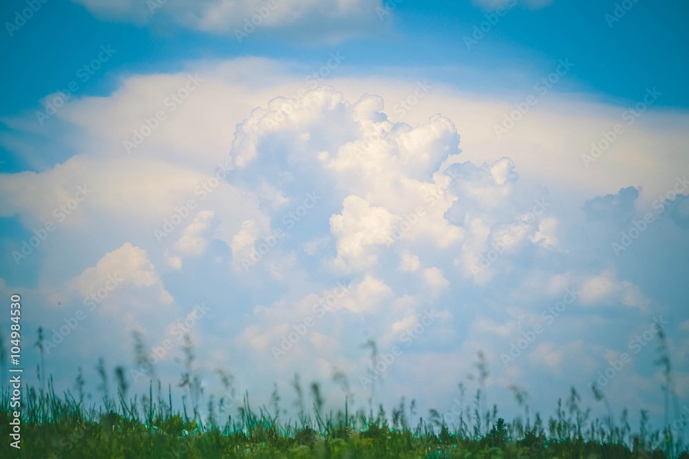
[[[445,193],[446,176],[438,172],[457,151],[454,125],[435,115],[411,127],[388,121],[381,110],[377,96],[364,95],[351,104],[333,88],[322,87],[255,109],[238,126],[233,142],[239,169],[251,171],[252,163],[269,158],[287,159],[307,170],[325,169],[347,192],[342,212],[330,219],[338,249],[333,266],[342,270],[376,264],[376,246],[424,237],[448,246],[462,237],[461,229],[444,218],[455,198]],[[285,158],[281,152],[287,145]]]

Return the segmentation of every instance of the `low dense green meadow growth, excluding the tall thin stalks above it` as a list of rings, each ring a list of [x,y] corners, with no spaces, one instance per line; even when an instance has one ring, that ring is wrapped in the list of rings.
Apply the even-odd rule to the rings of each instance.
[[[102,412],[84,407],[69,392],[59,398],[51,381],[44,394],[29,392],[21,451],[17,454],[8,442],[2,442],[2,458],[668,458],[663,452],[667,445],[659,434],[649,434],[645,425],[641,426],[645,438],[630,436],[628,427],[606,430],[605,424],[582,432],[578,408],[572,403],[571,417],[562,405],[557,409],[547,436],[539,417],[533,426],[527,423],[527,429],[517,421],[497,418],[489,431],[476,438],[442,420],[433,427],[420,418],[415,427],[408,427],[406,419],[402,422],[403,403],[394,410],[398,428],[389,426],[382,407],[376,418],[367,418],[361,411],[347,423],[344,416],[337,424],[332,415],[325,416],[320,427],[302,414],[302,427],[298,427],[298,423],[271,417],[267,409],[256,414],[245,397],[239,409],[241,422],[227,418],[220,426],[202,425],[172,412],[168,400],[150,400],[152,391],[141,403],[121,403],[119,410],[110,403]],[[7,407],[4,394],[0,410],[3,436],[11,416]],[[314,415],[321,409],[322,403],[316,404]],[[486,418],[493,417],[489,414]],[[630,450],[632,444],[635,451]],[[673,448],[679,451],[679,445],[670,445]],[[675,457],[689,459],[686,452]]]

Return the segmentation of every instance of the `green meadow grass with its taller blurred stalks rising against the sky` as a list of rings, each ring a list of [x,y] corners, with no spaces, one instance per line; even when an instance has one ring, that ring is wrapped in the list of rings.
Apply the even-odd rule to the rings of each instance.
[[[40,339],[37,347],[41,350]],[[178,384],[186,392],[181,407],[173,405],[172,386],[165,390],[159,381],[156,387],[150,384],[148,394],[129,398],[121,367],[115,370],[118,387],[111,397],[102,359],[96,365],[101,375],[99,389],[103,392],[97,405],[84,401],[81,370],[76,377],[76,396],[70,391],[59,396],[52,378],[41,378],[45,373],[39,367],[41,387],[27,387],[22,396],[21,450],[10,447],[8,434],[3,434],[6,440],[0,444],[0,457],[689,459],[681,439],[673,438],[676,431],[670,427],[648,431],[644,411],[636,432],[630,429],[626,411],[617,422],[612,410],[603,420],[590,420],[590,409],[579,407],[580,396],[574,388],[564,402],[559,401],[555,416],[544,420],[539,414],[532,419],[526,392],[511,387],[524,409],[524,418],[511,422],[498,418],[497,407],[486,409],[482,390],[477,389],[473,408],[462,408],[457,422],[449,425],[434,409],[426,418],[419,416],[415,401],[407,405],[404,398],[391,414],[382,405],[374,414],[373,392],[368,412],[352,412],[347,378],[341,373],[333,379],[342,383],[346,394],[344,409],[326,413],[317,383],[310,387],[313,405],[305,409],[304,390],[295,376],[292,385],[300,412],[297,420],[287,420],[278,416],[277,386],[271,397],[271,409],[263,406],[256,411],[248,394],[239,403],[233,402],[236,397],[227,396],[234,392],[232,376],[218,371],[227,389],[225,396],[209,396],[205,416],[200,416],[198,405],[203,397],[199,378],[190,370],[194,354],[189,341],[185,352],[187,365]],[[669,360],[665,364],[671,374]],[[482,354],[477,369],[477,381],[483,387],[488,373]],[[596,398],[609,409],[601,390],[592,388]],[[462,384],[460,391],[463,395]],[[666,401],[672,395],[666,391]],[[4,431],[12,416],[9,392],[4,390],[1,398],[0,425]],[[666,425],[669,426],[667,420]]]

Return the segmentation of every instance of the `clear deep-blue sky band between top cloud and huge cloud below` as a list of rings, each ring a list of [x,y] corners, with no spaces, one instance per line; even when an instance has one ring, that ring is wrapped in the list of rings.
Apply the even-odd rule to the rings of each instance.
[[[539,68],[568,56],[578,64],[572,76],[590,92],[631,100],[639,87],[658,85],[671,94],[664,105],[686,107],[689,95],[683,85],[687,72],[683,45],[689,42],[689,32],[683,23],[689,7],[677,1],[639,1],[624,20],[613,22],[610,28],[604,15],[614,11],[614,3],[554,2],[539,10],[517,5],[473,50],[467,50],[464,36],[486,20],[485,8],[471,2],[402,1],[390,15],[383,16],[381,22],[390,22],[391,28],[381,39],[352,39],[338,44],[338,49],[352,56],[353,65],[364,68],[482,65],[500,69],[515,64]],[[3,18],[13,18],[21,6],[22,2],[4,3]],[[3,103],[3,114],[30,107],[71,81],[74,69],[90,60],[103,43],[113,43],[120,53],[119,62],[107,69],[109,74],[94,76],[83,88],[86,94],[112,89],[107,77],[112,78],[113,73],[174,70],[180,60],[189,58],[258,55],[314,63],[324,49],[331,48],[330,44],[294,42],[284,36],[252,36],[238,43],[187,30],[161,34],[136,25],[99,21],[74,3],[48,2],[41,11],[13,36],[2,36],[2,78],[14,88]]]

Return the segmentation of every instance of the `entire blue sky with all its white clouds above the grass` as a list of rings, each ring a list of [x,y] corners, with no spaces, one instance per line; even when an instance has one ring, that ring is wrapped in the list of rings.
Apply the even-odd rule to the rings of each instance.
[[[300,372],[337,407],[342,370],[364,405],[376,339],[403,349],[376,402],[442,411],[482,350],[507,416],[510,385],[544,414],[574,385],[600,412],[588,383],[663,323],[688,403],[689,6],[629,1],[612,21],[605,1],[334,3],[278,2],[241,41],[267,3],[48,1],[9,29],[28,7],[0,7],[0,292],[52,336],[123,277],[51,351],[56,381],[94,381],[99,356],[132,370],[133,332],[172,339],[156,376],[176,381],[175,324],[203,303],[189,334],[209,392],[218,367],[259,400]],[[605,390],[657,425],[656,345]]]

